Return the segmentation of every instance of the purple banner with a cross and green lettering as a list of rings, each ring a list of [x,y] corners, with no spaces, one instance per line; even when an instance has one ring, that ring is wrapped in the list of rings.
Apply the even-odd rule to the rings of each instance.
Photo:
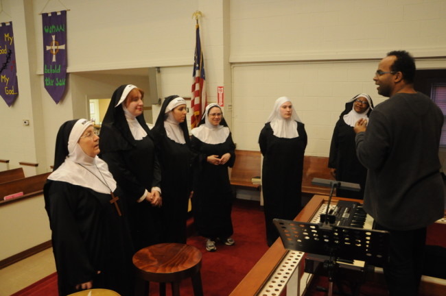
[[[43,77],[56,103],[64,95],[67,77],[67,11],[42,14]]]

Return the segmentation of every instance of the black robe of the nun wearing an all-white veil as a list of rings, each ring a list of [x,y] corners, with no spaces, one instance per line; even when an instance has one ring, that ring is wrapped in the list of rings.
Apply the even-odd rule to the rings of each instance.
[[[270,123],[260,132],[259,146],[263,155],[262,190],[266,221],[266,239],[272,245],[279,237],[272,219],[292,220],[301,210],[303,156],[307,133],[297,122],[297,138],[274,136]]]

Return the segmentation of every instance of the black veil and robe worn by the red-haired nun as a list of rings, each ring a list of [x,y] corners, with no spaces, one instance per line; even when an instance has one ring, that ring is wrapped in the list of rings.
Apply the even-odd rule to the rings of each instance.
[[[107,164],[130,211],[130,227],[134,247],[139,250],[161,242],[161,211],[148,201],[137,202],[147,189],[161,187],[161,170],[155,153],[154,138],[141,114],[137,116],[147,133],[134,140],[124,110],[115,105],[126,85],[113,93],[99,134],[99,157]]]

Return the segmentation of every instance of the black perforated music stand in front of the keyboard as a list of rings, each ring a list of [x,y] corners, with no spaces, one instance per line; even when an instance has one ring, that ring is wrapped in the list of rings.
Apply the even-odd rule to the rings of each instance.
[[[362,260],[379,267],[388,260],[389,234],[382,230],[332,226],[327,222],[316,224],[283,219],[273,222],[285,249],[328,257],[323,266],[329,275],[329,296],[333,295],[333,282],[340,267],[338,258]]]

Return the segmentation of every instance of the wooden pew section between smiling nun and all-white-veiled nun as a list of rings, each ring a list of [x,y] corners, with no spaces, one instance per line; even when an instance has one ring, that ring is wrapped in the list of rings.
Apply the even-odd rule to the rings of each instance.
[[[260,184],[253,184],[252,178],[260,175],[260,151],[235,150],[235,163],[231,170],[231,185],[260,190]]]

